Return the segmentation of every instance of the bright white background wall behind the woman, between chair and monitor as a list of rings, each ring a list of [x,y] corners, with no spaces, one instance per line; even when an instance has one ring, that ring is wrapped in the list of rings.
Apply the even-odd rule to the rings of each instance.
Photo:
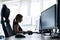
[[[41,0],[20,0],[20,1],[10,1],[10,2],[3,2],[3,4],[6,4],[7,7],[10,9],[10,24],[11,27],[13,25],[13,19],[17,14],[22,14],[23,22],[22,26],[25,25],[26,30],[32,26],[36,26],[36,22],[39,19],[39,16],[41,15]],[[28,21],[27,21],[28,19]],[[29,26],[29,27],[28,27]],[[24,26],[23,26],[24,27]],[[25,28],[24,27],[24,28]],[[39,26],[37,26],[38,28]],[[35,30],[36,27],[32,27]]]

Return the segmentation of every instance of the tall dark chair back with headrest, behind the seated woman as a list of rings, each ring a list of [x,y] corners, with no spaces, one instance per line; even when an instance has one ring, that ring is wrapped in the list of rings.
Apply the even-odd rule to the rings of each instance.
[[[9,37],[12,34],[11,32],[12,29],[11,29],[10,21],[9,21],[9,15],[10,15],[10,9],[7,8],[5,4],[3,4],[2,10],[1,10],[1,24],[4,30],[5,37]]]

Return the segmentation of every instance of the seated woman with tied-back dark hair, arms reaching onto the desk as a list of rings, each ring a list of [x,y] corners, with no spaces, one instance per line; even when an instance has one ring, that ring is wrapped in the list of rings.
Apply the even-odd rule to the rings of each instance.
[[[16,17],[14,18],[14,20],[13,20],[13,31],[14,31],[14,33],[19,34],[22,37],[24,37],[24,35],[22,35],[22,33],[23,34],[27,33],[27,34],[31,35],[32,31],[30,31],[30,30],[29,31],[23,31],[23,29],[19,26],[18,23],[22,22],[22,18],[23,18],[23,16],[21,14],[17,14]]]

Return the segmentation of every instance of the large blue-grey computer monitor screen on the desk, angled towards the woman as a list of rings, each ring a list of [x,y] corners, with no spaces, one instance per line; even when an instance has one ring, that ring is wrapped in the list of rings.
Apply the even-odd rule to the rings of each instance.
[[[41,13],[41,29],[56,27],[56,4]]]

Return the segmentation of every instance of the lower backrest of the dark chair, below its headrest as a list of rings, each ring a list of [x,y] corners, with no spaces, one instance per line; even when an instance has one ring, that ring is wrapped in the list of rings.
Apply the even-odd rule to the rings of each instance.
[[[15,35],[15,33],[11,29],[9,20],[6,20],[6,25],[4,25],[4,23],[2,23],[2,28],[4,31],[5,37],[10,37],[10,36]]]

